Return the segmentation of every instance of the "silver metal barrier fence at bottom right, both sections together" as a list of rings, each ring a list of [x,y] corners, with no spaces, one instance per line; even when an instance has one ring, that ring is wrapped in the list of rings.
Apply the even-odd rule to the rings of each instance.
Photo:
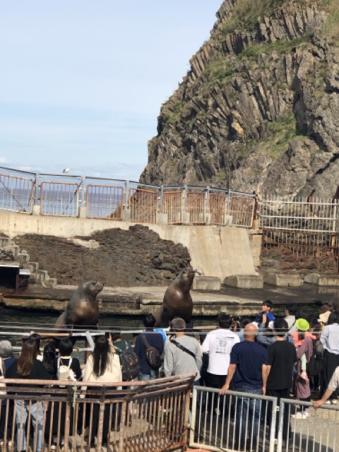
[[[295,413],[308,412],[304,417]],[[339,406],[194,386],[189,446],[210,451],[338,452]]]

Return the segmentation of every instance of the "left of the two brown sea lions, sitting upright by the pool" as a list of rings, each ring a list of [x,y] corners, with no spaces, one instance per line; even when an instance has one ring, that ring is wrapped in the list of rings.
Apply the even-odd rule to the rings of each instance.
[[[99,304],[97,294],[102,291],[104,285],[97,280],[89,280],[81,283],[74,290],[65,311],[57,319],[54,328],[63,330],[74,327],[92,326],[97,328],[99,320]]]

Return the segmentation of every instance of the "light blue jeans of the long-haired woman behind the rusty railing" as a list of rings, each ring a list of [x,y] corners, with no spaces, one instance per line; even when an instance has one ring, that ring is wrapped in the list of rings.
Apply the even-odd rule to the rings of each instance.
[[[44,420],[44,408],[42,402],[35,402],[30,405],[30,403],[26,402],[25,400],[18,400],[18,402],[16,403],[16,448],[18,452],[26,450],[25,427],[29,411],[34,431],[37,431],[37,448],[35,452],[41,452],[42,423]]]

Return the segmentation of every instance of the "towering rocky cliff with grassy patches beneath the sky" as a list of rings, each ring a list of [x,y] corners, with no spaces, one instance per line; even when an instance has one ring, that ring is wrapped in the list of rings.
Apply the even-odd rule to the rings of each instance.
[[[332,197],[337,0],[225,0],[217,17],[162,105],[141,182]]]

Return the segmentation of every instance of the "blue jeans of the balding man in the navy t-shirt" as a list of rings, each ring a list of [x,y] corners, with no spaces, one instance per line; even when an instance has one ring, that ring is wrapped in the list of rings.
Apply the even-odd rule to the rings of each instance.
[[[241,393],[262,395],[261,389],[251,388],[249,386],[239,386],[236,391]],[[260,422],[260,400],[255,398],[237,398],[237,420],[236,430],[239,443],[244,446],[246,436],[253,448],[256,448],[258,436],[258,427]]]

